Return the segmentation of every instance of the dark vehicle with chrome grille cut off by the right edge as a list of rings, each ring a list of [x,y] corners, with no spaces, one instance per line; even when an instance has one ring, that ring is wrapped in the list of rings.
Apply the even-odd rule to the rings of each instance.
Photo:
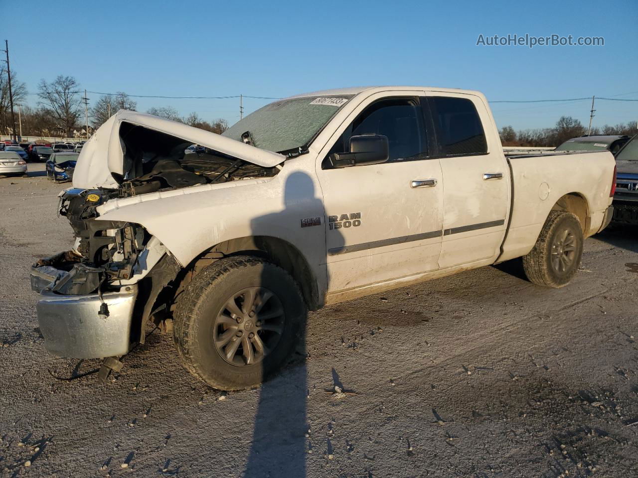
[[[616,154],[615,224],[638,224],[638,134]]]

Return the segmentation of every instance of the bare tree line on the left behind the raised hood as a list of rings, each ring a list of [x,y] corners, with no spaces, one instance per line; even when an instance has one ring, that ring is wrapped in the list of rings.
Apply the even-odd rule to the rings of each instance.
[[[0,134],[10,136],[13,131],[13,121],[11,120],[8,79],[6,69],[0,70]],[[16,134],[20,134],[20,117],[23,136],[85,137],[86,119],[82,91],[80,91],[80,85],[73,76],[59,75],[50,82],[41,80],[36,92],[37,106],[26,105],[29,92],[26,84],[20,82],[14,71],[11,71],[11,90],[13,92]],[[100,96],[89,108],[89,133],[100,127],[117,110],[137,111],[137,102],[121,91],[112,95]],[[218,134],[228,129],[228,124],[224,119],[207,121],[200,118],[196,112],[181,117],[172,106],[150,108],[147,113]]]

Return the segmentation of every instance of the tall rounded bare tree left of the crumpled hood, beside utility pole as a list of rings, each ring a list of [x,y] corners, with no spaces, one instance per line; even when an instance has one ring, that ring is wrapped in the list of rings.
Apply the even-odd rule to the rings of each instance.
[[[71,130],[80,117],[79,86],[73,76],[63,75],[58,75],[50,83],[41,80],[38,85],[41,105],[67,137],[71,136]]]

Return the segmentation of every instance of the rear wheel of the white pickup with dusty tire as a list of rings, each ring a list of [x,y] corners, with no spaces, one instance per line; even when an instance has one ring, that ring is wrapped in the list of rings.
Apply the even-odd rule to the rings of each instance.
[[[523,256],[527,278],[538,286],[567,286],[581,265],[583,243],[581,222],[574,214],[550,212],[533,249]]]

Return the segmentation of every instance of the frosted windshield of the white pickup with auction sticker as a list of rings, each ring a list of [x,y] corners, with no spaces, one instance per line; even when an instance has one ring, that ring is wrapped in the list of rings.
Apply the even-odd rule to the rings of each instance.
[[[306,96],[263,106],[226,129],[222,136],[242,141],[249,132],[253,146],[285,152],[308,145],[352,95]]]

